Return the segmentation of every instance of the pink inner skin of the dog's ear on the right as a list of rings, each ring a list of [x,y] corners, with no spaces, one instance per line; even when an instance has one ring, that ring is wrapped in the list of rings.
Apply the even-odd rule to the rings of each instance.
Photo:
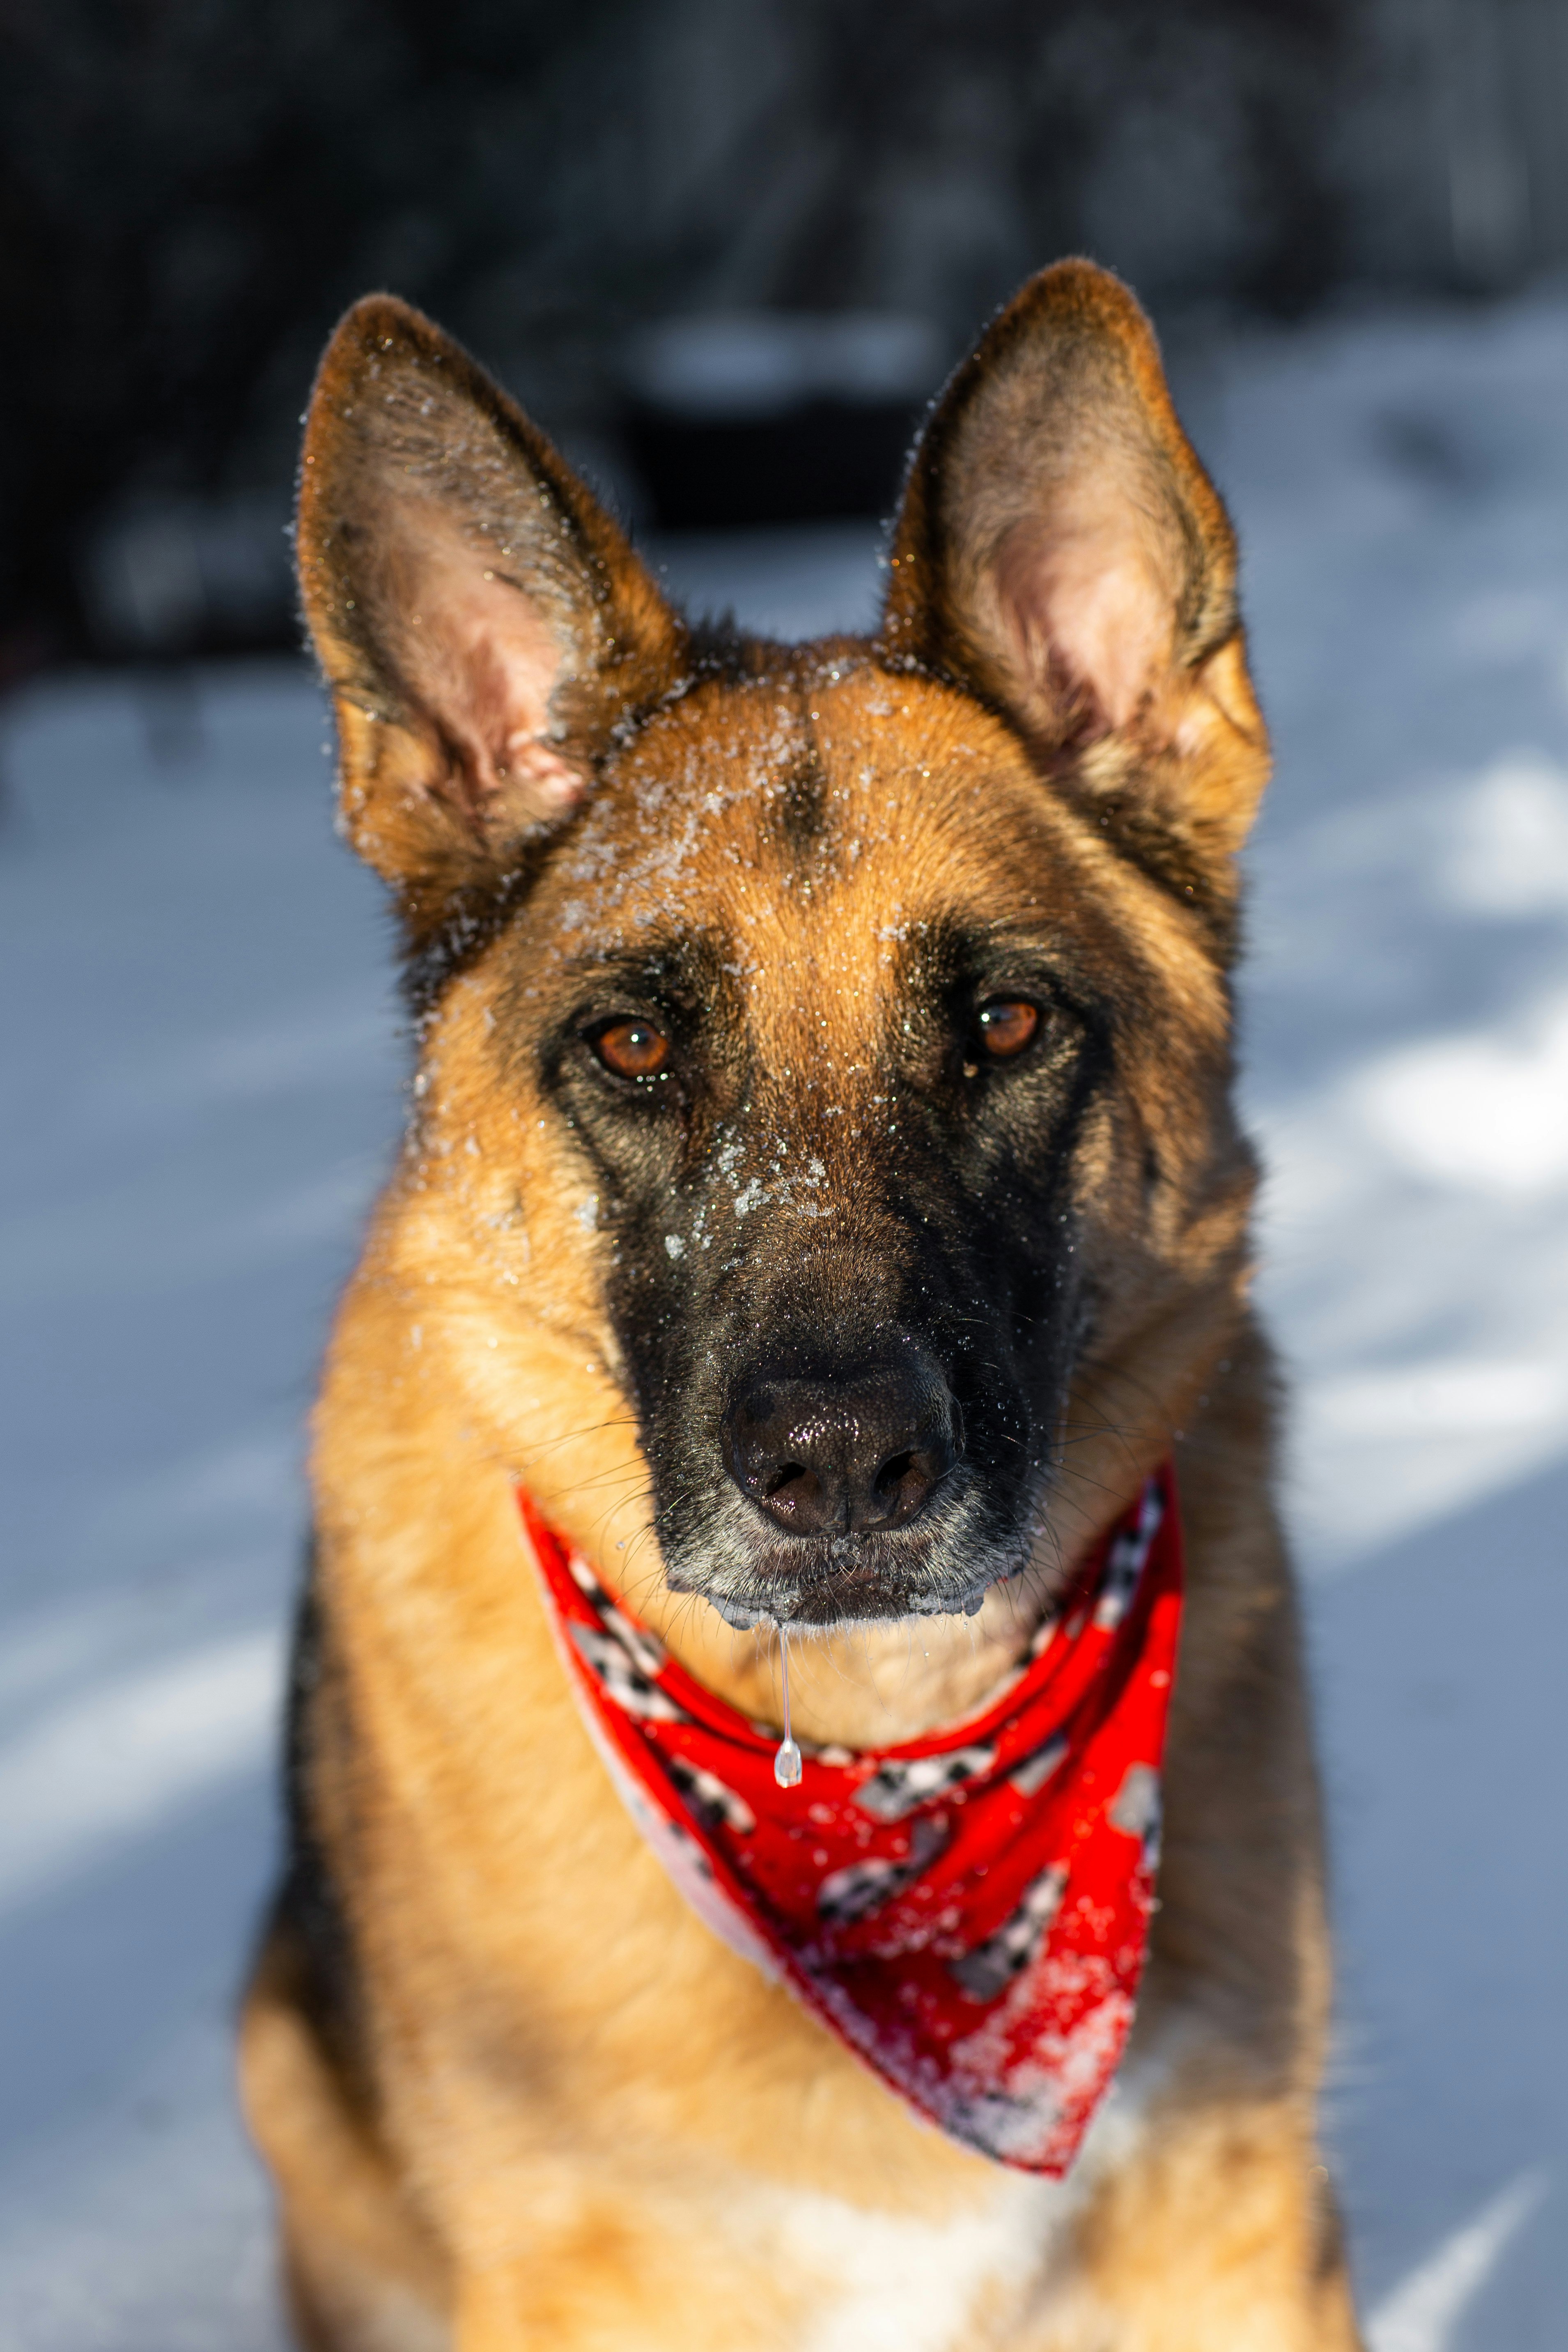
[[[1027,687],[1060,715],[1077,710],[1079,741],[1126,727],[1166,677],[1175,588],[1124,496],[1063,496],[1016,522],[997,546],[992,583]]]

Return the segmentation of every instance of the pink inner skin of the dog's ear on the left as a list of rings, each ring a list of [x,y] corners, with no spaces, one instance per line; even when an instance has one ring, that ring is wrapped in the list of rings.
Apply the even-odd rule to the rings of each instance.
[[[562,816],[583,776],[550,746],[567,649],[550,619],[440,513],[404,508],[393,567],[404,684],[458,753],[470,814],[505,797],[524,821]],[[498,557],[496,562],[505,562]]]

